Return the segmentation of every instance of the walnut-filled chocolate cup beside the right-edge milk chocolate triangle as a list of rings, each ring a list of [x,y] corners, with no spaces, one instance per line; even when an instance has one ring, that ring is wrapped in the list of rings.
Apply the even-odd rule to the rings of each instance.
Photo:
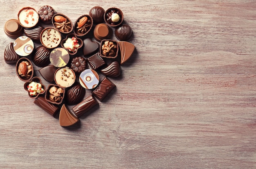
[[[116,48],[113,48],[112,50],[110,50],[109,48],[110,48],[110,43],[108,43],[108,44],[105,44],[105,42],[110,42],[110,43],[113,43],[115,46],[116,46]],[[105,47],[103,47],[103,45],[105,45],[106,46],[106,48]],[[119,46],[118,46],[118,43],[117,43],[117,41],[115,41],[115,40],[111,40],[111,39],[103,39],[103,40],[101,40],[101,45],[100,45],[100,50],[99,50],[100,52],[100,55],[103,57],[103,58],[116,58],[117,57],[117,55],[118,55],[118,51],[119,51]],[[104,51],[107,51],[107,52],[104,52]],[[114,52],[114,53],[113,53]]]

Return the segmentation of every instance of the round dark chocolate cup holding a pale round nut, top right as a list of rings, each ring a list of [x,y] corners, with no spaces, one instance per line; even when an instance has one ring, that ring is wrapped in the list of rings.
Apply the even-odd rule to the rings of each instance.
[[[112,14],[114,14],[116,16],[118,15],[119,16],[119,20],[116,20],[116,18],[113,17]],[[119,26],[124,21],[124,14],[118,8],[115,8],[115,7],[109,8],[104,13],[104,20],[105,20],[106,24],[108,24],[110,27],[117,27],[117,26]]]

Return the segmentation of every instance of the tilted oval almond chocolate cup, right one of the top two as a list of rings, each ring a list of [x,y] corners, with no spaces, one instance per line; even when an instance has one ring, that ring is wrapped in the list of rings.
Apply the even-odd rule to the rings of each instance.
[[[85,36],[91,29],[93,25],[93,19],[90,15],[80,16],[74,24],[74,33],[76,36]]]

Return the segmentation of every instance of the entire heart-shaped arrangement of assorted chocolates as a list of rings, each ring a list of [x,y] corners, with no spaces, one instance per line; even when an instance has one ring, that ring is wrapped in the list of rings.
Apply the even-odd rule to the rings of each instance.
[[[4,60],[16,64],[16,74],[36,105],[54,117],[59,113],[62,127],[72,126],[116,87],[109,78],[120,76],[121,65],[135,50],[128,42],[132,29],[123,21],[118,8],[93,7],[72,23],[48,5],[38,11],[25,7],[17,20],[4,25],[6,35],[15,39]],[[112,40],[113,33],[119,41]],[[48,87],[36,76],[36,67]],[[90,96],[84,98],[86,91]],[[74,106],[72,111],[67,105]]]

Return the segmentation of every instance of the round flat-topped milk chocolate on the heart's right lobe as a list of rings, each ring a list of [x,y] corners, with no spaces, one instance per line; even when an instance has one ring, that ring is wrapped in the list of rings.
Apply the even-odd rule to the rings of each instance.
[[[112,36],[112,29],[107,24],[97,24],[94,28],[93,35],[98,41],[110,39]]]

